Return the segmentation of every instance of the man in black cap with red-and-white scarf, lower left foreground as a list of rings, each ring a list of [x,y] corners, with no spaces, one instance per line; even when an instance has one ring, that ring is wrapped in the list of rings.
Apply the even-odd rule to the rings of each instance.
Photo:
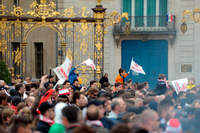
[[[52,117],[54,117],[53,105],[48,102],[43,102],[39,106],[40,116],[37,124],[37,131],[41,133],[48,133],[50,127],[54,124]]]

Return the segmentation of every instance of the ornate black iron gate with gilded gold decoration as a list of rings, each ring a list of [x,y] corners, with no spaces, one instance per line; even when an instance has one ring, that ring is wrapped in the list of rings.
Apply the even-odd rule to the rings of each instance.
[[[30,8],[25,12],[16,4],[8,11],[4,2],[0,3],[0,57],[9,66],[12,76],[26,76],[27,39],[32,31],[47,27],[59,36],[58,51],[62,54],[57,65],[67,56],[78,68],[84,83],[99,79],[104,65],[105,28],[119,23],[122,17],[128,18],[128,14],[112,11],[106,15],[101,0],[97,0],[92,11],[83,7],[78,13],[73,8],[58,12],[52,0],[33,0]],[[20,44],[13,48],[14,41]],[[88,58],[94,60],[96,70],[79,65]]]

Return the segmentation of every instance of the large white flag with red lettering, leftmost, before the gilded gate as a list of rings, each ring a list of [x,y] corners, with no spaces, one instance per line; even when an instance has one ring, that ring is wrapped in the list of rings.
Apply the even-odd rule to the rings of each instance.
[[[60,81],[65,81],[68,79],[69,72],[71,70],[72,63],[71,61],[66,57],[65,61],[62,65],[56,67],[53,69],[55,74],[58,76]]]

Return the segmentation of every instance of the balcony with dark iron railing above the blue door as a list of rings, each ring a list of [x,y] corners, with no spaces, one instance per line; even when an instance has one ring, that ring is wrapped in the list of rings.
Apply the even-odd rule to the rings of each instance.
[[[176,35],[176,18],[173,16],[171,22],[166,16],[131,16],[129,20],[122,20],[113,29],[114,36],[125,34],[139,35]]]

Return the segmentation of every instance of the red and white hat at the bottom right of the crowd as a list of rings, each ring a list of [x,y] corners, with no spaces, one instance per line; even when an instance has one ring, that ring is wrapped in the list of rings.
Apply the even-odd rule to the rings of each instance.
[[[178,119],[170,119],[167,122],[166,133],[182,133],[180,121]]]

